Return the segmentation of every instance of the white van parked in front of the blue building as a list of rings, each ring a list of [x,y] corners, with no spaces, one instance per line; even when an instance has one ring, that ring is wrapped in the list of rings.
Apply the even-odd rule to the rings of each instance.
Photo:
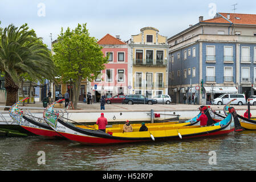
[[[233,100],[233,98],[236,98],[233,102],[230,104],[238,104],[243,105],[246,104],[245,94],[222,94],[221,96],[214,98],[213,104],[214,105],[222,105],[227,104],[227,102]]]

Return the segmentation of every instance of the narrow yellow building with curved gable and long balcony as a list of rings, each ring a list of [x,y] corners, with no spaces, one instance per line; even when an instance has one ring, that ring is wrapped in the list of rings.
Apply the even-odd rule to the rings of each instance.
[[[131,53],[129,71],[130,94],[143,94],[151,98],[168,94],[168,43],[153,27],[140,29],[128,41]],[[131,76],[132,75],[132,76]]]

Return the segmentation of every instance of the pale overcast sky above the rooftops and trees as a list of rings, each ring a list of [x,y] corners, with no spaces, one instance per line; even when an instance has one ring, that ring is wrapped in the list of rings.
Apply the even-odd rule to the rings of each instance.
[[[210,19],[216,11],[233,13],[235,3],[235,13],[256,14],[256,1],[252,0],[0,0],[0,26],[27,23],[48,46],[50,34],[55,40],[62,27],[75,28],[78,23],[87,23],[90,35],[97,39],[111,34],[128,40],[148,26],[169,38],[198,23],[198,16]]]

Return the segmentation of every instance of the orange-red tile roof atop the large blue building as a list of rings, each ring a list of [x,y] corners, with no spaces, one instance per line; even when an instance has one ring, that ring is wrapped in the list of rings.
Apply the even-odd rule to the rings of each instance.
[[[219,13],[225,18],[227,18],[227,14],[230,15],[230,22],[234,24],[256,24],[256,15],[254,14],[238,14],[238,13]],[[208,23],[230,23],[228,20],[223,18],[222,16],[216,17],[213,19],[203,20],[202,22]]]

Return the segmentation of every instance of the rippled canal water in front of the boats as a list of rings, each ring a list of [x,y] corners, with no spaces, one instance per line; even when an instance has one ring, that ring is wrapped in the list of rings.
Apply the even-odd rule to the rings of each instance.
[[[255,159],[256,131],[111,146],[38,136],[0,138],[0,170],[255,170]]]

